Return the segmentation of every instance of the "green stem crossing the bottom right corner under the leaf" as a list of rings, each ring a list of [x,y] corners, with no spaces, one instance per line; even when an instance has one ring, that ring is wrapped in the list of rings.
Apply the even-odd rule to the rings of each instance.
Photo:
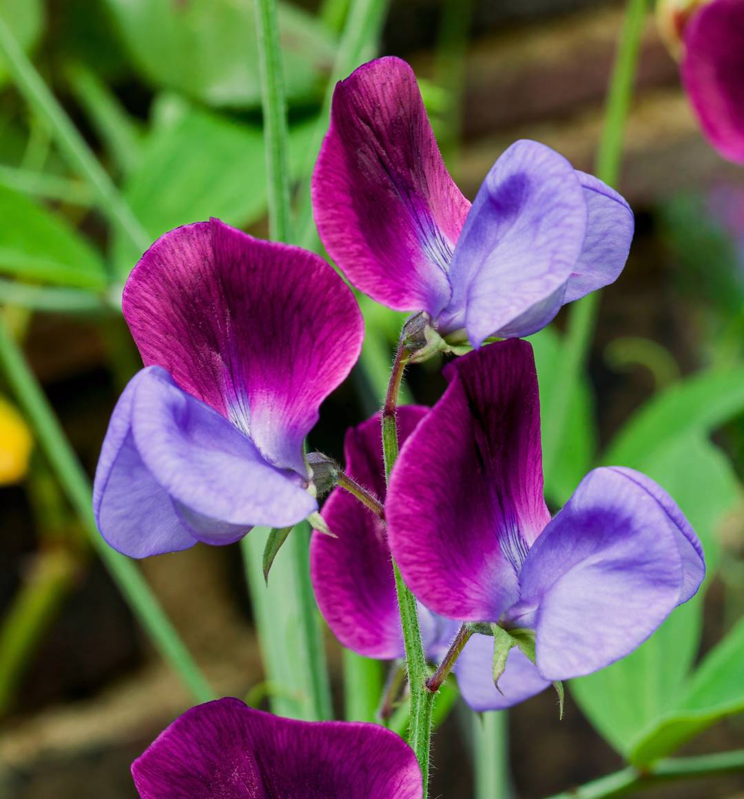
[[[613,799],[635,796],[639,791],[665,782],[735,773],[744,773],[744,749],[697,757],[670,757],[654,763],[644,771],[628,766],[607,777],[587,782],[580,788],[557,793],[551,799]]]

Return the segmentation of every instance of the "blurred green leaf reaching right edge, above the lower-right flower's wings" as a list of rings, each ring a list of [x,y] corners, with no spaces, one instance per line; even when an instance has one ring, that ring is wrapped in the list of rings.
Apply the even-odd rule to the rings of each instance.
[[[640,468],[675,436],[710,433],[744,411],[744,368],[701,372],[652,397],[615,436],[603,463]]]

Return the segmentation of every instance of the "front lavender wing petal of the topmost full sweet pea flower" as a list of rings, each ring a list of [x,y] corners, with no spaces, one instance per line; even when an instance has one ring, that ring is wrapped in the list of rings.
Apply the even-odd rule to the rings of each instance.
[[[586,234],[587,201],[571,164],[536,141],[511,145],[483,181],[457,242],[440,332],[466,328],[478,347],[531,311],[519,334],[543,328],[560,307],[546,300],[571,276]]]

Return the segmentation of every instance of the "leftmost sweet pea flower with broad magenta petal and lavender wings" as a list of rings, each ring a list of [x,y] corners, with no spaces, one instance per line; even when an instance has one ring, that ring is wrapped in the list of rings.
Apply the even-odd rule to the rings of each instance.
[[[316,511],[305,436],[363,322],[320,257],[221,221],[165,233],[124,289],[145,368],[113,411],[93,510],[134,558],[227,544]]]

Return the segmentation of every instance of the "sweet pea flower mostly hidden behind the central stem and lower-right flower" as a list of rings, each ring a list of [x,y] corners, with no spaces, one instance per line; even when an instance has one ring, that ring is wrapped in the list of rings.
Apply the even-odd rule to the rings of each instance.
[[[404,442],[429,409],[416,405],[398,408],[398,434]],[[380,448],[380,415],[346,434],[346,473],[380,499],[385,496],[384,464]],[[403,658],[396,582],[384,523],[355,497],[335,488],[323,506],[323,518],[335,537],[313,533],[310,573],[316,600],[336,638],[348,649],[367,658]],[[458,622],[428,610],[419,602],[419,622],[424,651],[432,662],[444,657],[455,637]],[[475,710],[495,710],[543,690],[549,683],[539,678],[519,651],[508,656],[507,671],[498,694],[491,679],[493,645],[475,635],[456,662],[455,673],[465,702]],[[491,696],[495,694],[495,696]],[[483,698],[487,707],[483,706]]]

